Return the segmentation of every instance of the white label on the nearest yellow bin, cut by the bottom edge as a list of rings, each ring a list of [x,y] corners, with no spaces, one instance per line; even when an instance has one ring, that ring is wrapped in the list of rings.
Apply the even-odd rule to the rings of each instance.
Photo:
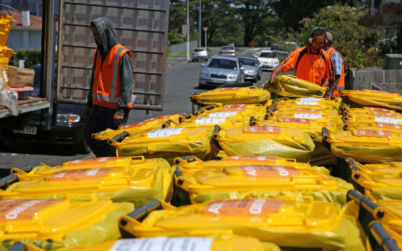
[[[211,250],[212,239],[202,237],[154,237],[116,241],[110,251],[202,251]]]

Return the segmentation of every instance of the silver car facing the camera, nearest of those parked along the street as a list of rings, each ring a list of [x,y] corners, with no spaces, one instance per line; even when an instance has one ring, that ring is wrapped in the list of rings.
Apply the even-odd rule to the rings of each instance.
[[[244,68],[239,59],[232,56],[212,56],[205,65],[202,63],[200,88],[207,86],[220,86],[228,83],[244,82]]]

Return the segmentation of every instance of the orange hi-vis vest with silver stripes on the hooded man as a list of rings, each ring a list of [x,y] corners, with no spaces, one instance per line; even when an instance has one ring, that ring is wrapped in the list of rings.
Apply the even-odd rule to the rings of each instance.
[[[119,66],[121,56],[126,53],[131,56],[131,51],[127,50],[123,45],[114,45],[102,63],[101,55],[95,50],[94,87],[92,91],[94,105],[112,109],[119,107],[119,98],[121,96]]]

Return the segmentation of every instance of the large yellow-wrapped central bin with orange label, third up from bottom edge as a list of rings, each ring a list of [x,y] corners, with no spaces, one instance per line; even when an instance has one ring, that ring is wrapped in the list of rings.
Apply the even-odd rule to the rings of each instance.
[[[249,162],[251,163],[251,162]],[[338,206],[346,202],[352,185],[329,176],[323,167],[266,163],[265,165],[222,165],[221,168],[194,169],[177,167],[174,172],[175,195],[183,204],[202,203],[210,199],[276,198],[309,196],[331,201]],[[179,193],[178,195],[176,193]],[[180,204],[177,204],[180,205]]]

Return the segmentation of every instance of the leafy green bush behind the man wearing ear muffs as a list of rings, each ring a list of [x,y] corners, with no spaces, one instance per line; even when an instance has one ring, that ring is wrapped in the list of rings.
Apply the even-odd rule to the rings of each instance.
[[[336,4],[322,8],[313,18],[306,17],[301,21],[299,44],[306,44],[314,27],[320,26],[332,33],[333,47],[343,54],[345,69],[382,66],[380,51],[375,43],[380,33],[359,24],[366,10],[347,5]]]

